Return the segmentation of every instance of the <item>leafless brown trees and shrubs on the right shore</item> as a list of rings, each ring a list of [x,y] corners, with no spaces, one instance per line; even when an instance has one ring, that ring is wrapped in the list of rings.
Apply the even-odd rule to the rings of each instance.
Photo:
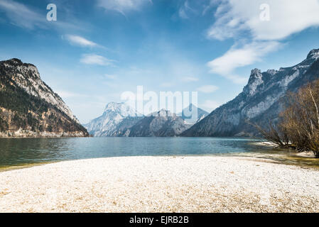
[[[280,148],[312,151],[319,157],[319,79],[296,93],[289,92],[284,100],[277,126],[271,122],[266,130],[254,126]]]

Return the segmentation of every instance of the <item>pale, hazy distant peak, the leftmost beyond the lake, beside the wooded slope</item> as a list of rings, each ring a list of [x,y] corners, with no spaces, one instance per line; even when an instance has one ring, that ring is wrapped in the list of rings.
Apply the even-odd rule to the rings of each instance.
[[[124,103],[107,104],[102,116],[87,123],[85,127],[91,135],[97,137],[128,136],[129,128],[143,116]]]

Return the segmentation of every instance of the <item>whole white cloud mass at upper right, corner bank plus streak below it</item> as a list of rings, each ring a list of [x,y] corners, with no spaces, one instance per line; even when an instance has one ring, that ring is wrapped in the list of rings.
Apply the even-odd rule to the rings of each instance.
[[[261,4],[269,5],[270,21],[261,20]],[[247,82],[246,77],[234,73],[238,67],[252,65],[278,50],[284,45],[283,38],[319,26],[318,0],[212,0],[205,11],[212,6],[217,6],[217,19],[207,31],[207,37],[233,38],[237,45],[207,65],[210,72],[238,84]],[[244,44],[240,47],[238,43]]]

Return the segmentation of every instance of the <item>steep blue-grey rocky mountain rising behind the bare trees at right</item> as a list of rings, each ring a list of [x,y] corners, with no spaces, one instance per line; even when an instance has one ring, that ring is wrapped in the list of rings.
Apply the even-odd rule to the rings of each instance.
[[[183,136],[252,136],[258,132],[247,123],[276,123],[286,92],[319,77],[319,49],[311,50],[303,62],[279,70],[252,70],[243,92],[182,133]]]

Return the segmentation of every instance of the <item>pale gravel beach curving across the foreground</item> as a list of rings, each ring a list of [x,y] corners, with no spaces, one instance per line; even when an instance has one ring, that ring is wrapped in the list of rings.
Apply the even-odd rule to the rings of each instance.
[[[318,212],[319,170],[244,157],[112,157],[0,172],[1,212]]]

